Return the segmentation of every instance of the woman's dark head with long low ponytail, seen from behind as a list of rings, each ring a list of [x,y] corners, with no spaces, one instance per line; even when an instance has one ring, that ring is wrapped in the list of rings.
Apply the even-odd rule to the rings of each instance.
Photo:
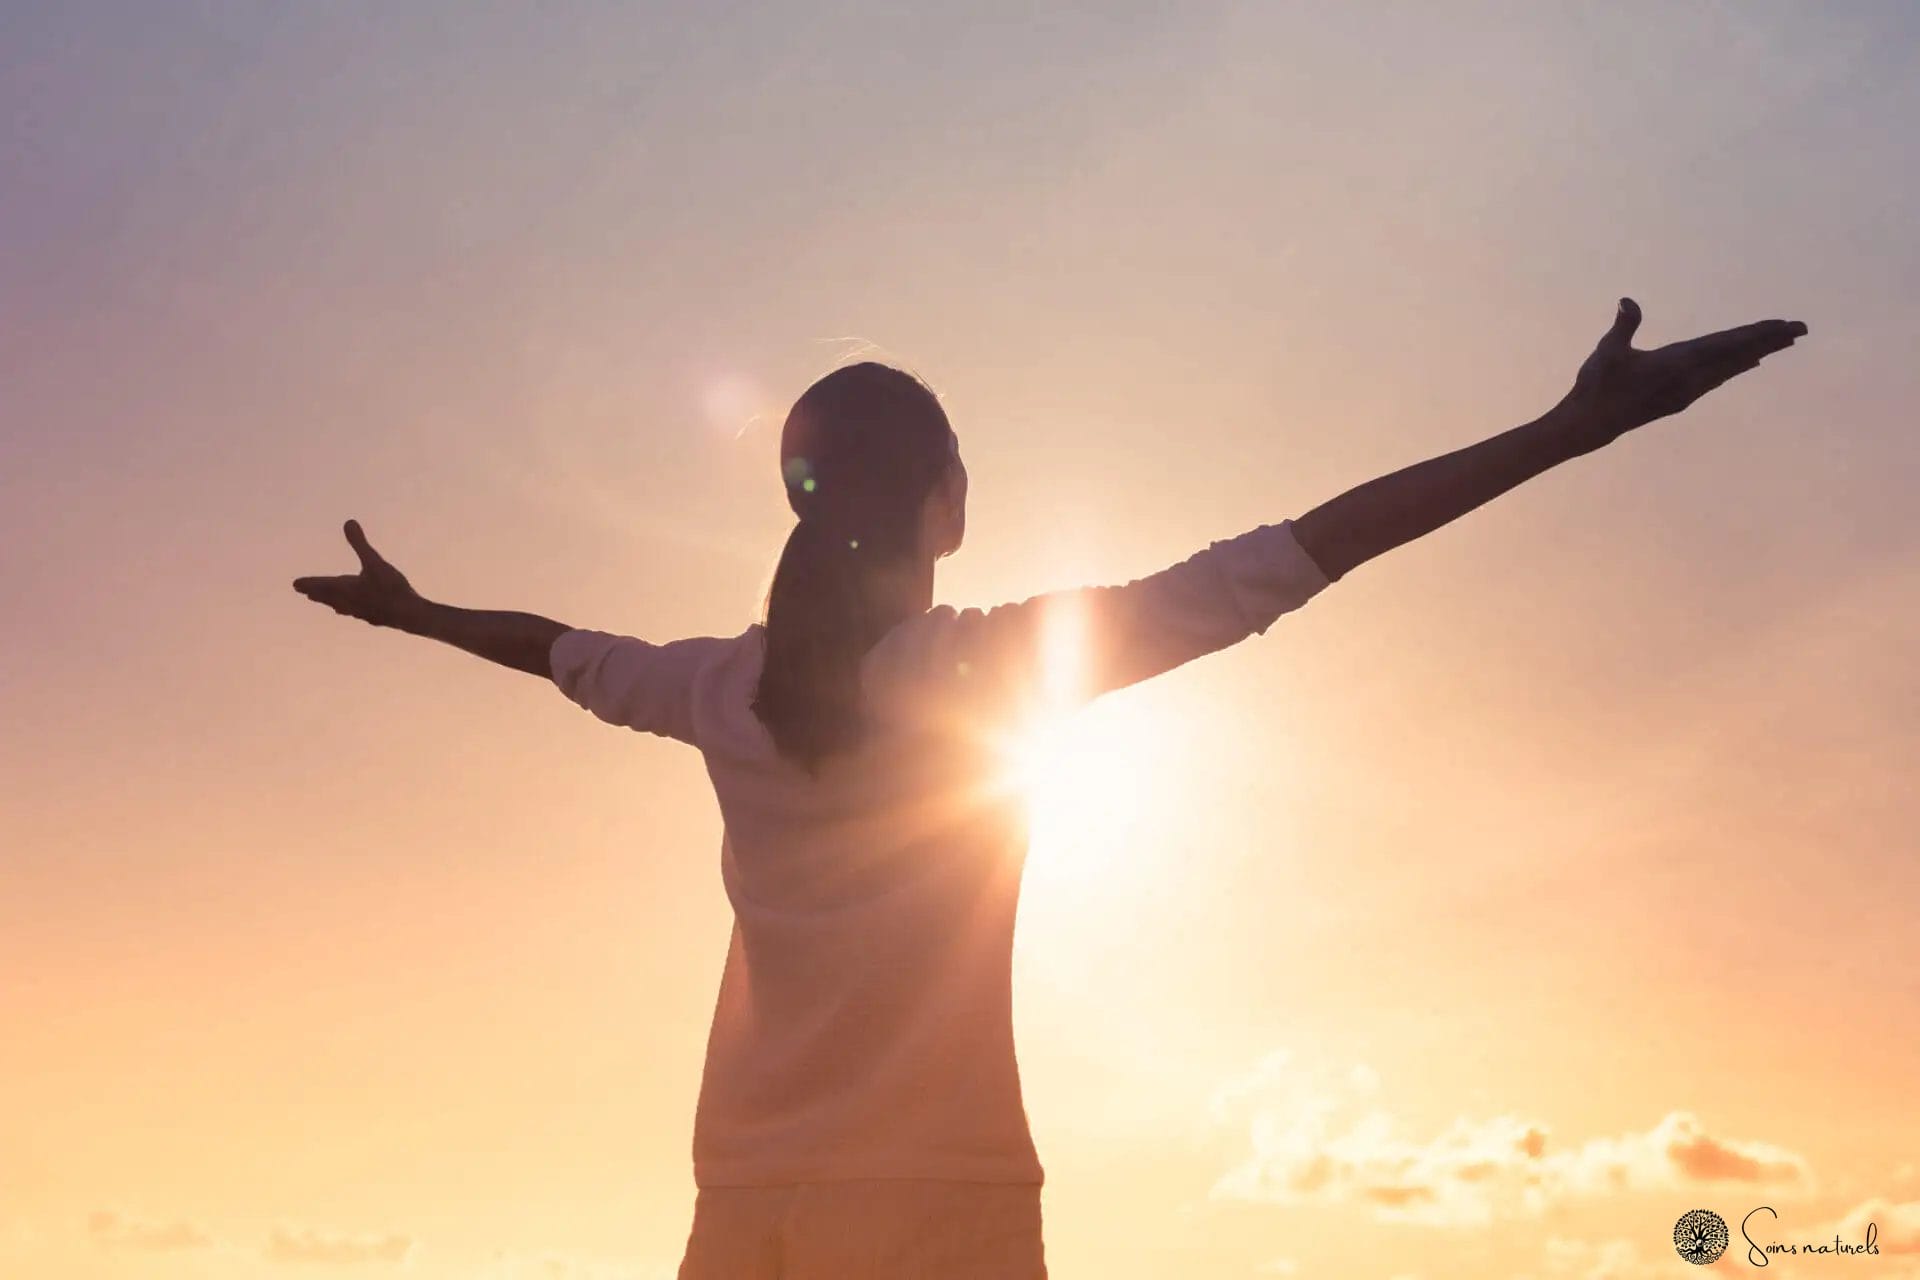
[[[808,771],[860,741],[860,658],[904,618],[881,580],[912,564],[950,438],[925,384],[872,361],[835,368],[787,413],[780,470],[799,524],[766,593],[753,712]]]

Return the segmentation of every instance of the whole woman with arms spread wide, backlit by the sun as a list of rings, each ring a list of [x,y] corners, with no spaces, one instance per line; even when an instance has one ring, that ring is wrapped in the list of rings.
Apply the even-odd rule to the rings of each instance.
[[[367,543],[294,587],[340,614],[551,677],[597,718],[697,747],[733,936],[695,1113],[682,1280],[1046,1274],[1012,1040],[1025,825],[998,741],[1265,631],[1354,566],[1678,413],[1807,332],[1763,320],[1655,351],[1613,328],[1540,418],[1363,484],[1148,578],[998,608],[933,604],[966,530],[935,395],[837,368],[781,432],[799,522],[764,624],[647,643],[422,599]],[[1071,685],[1050,645],[1077,645]]]

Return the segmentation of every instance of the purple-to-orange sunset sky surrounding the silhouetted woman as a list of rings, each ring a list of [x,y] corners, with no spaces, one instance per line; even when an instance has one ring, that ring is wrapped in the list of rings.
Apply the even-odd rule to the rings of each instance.
[[[0,1276],[672,1276],[701,760],[303,601],[348,516],[732,635],[876,357],[993,604],[1534,418],[1630,294],[1811,336],[1044,745],[1048,1265],[1674,1278],[1772,1205],[1914,1280],[1916,123],[1899,0],[0,4]]]

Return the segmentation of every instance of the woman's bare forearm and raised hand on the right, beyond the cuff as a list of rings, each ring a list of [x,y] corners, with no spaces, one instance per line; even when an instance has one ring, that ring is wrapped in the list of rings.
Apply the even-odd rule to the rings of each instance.
[[[1329,580],[1392,551],[1523,480],[1680,413],[1807,334],[1799,320],[1761,320],[1653,351],[1632,347],[1640,307],[1620,299],[1613,328],[1546,415],[1476,445],[1369,480],[1294,520],[1294,537]]]

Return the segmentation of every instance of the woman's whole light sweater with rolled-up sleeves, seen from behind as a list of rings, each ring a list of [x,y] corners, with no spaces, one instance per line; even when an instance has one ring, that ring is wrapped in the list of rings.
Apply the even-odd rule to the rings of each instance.
[[[1267,524],[1119,587],[939,604],[862,662],[874,731],[818,777],[749,708],[762,626],[647,643],[566,631],[553,679],[597,718],[689,743],[724,819],[733,906],[693,1125],[699,1186],[1041,1182],[1014,1061],[1025,808],[1004,745],[1083,702],[1265,631],[1325,589]],[[1050,647],[1083,679],[1050,679]]]

